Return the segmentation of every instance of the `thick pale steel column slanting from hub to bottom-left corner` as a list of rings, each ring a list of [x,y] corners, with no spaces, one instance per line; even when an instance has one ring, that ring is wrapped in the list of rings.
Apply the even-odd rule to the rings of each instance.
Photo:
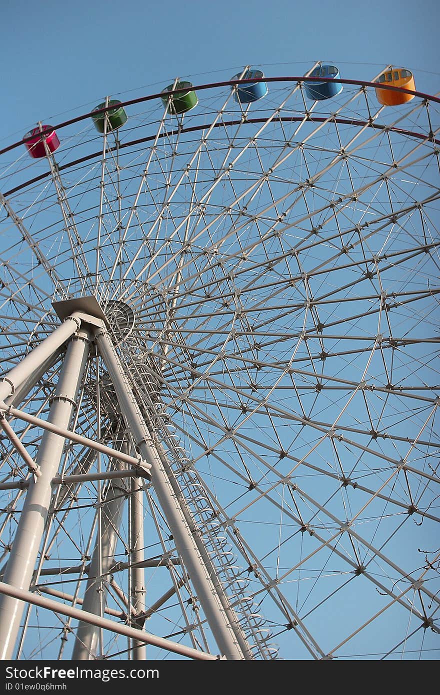
[[[65,324],[63,326],[65,327]],[[74,322],[67,322],[67,326],[75,328]],[[74,401],[81,384],[87,357],[88,333],[81,331],[72,338],[67,347],[49,411],[49,420],[60,427],[67,428],[72,419]],[[45,431],[38,448],[38,455],[35,457],[36,463],[41,468],[41,476],[29,482],[28,493],[4,575],[4,582],[18,589],[29,589],[31,584],[51,502],[51,480],[58,472],[64,445],[63,437]],[[0,660],[13,658],[23,611],[24,603],[17,598],[1,596]]]

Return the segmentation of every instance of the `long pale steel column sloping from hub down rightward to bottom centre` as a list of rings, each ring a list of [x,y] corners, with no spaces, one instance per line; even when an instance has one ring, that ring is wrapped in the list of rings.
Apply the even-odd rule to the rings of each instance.
[[[117,400],[120,404],[122,415],[131,428],[136,445],[149,464],[152,464],[152,484],[163,514],[168,521],[176,548],[184,561],[191,581],[194,584],[197,596],[203,607],[206,620],[211,627],[215,641],[222,655],[231,660],[243,660],[243,651],[238,644],[234,631],[231,629],[227,613],[225,612],[217,592],[211,580],[208,570],[204,565],[193,535],[190,532],[184,513],[181,510],[165,468],[151,441],[149,432],[140,413],[140,409],[124,373],[120,360],[117,357],[113,343],[108,333],[104,330],[95,332],[95,338],[101,356],[106,363],[108,373],[115,387]]]

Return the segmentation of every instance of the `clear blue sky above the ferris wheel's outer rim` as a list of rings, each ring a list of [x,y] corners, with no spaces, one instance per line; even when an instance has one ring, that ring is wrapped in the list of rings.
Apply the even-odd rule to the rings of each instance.
[[[2,145],[35,123],[85,112],[106,95],[160,90],[175,76],[229,79],[245,64],[302,74],[315,60],[370,79],[387,63],[440,90],[435,0],[2,0]],[[296,68],[296,70],[294,70]],[[139,90],[139,92],[138,92]],[[58,118],[59,117],[59,118]]]

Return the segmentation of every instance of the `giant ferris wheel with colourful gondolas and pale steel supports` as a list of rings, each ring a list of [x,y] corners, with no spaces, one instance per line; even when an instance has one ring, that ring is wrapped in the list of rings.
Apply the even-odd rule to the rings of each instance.
[[[439,104],[246,66],[1,151],[1,659],[438,656]]]

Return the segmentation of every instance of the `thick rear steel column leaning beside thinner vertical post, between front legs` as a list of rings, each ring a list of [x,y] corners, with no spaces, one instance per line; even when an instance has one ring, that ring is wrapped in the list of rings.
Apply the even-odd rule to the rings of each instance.
[[[121,468],[120,461],[115,460],[117,469]],[[108,584],[108,572],[115,563],[117,532],[122,521],[125,498],[129,482],[113,480],[107,488],[104,504],[101,505],[101,538],[97,537],[95,550],[90,563],[89,577],[85,588],[83,610],[101,615],[101,605],[105,600]],[[99,657],[97,654],[99,628],[80,621],[76,628],[76,639],[72,660],[90,660]]]

